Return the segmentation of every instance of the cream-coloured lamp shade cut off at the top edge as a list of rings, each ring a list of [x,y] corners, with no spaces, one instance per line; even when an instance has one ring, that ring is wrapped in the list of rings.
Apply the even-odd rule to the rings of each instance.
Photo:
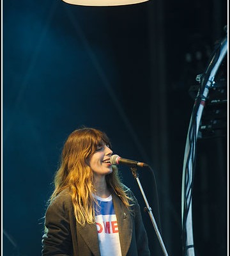
[[[68,4],[77,4],[85,6],[116,6],[126,4],[137,4],[148,0],[63,0]]]

